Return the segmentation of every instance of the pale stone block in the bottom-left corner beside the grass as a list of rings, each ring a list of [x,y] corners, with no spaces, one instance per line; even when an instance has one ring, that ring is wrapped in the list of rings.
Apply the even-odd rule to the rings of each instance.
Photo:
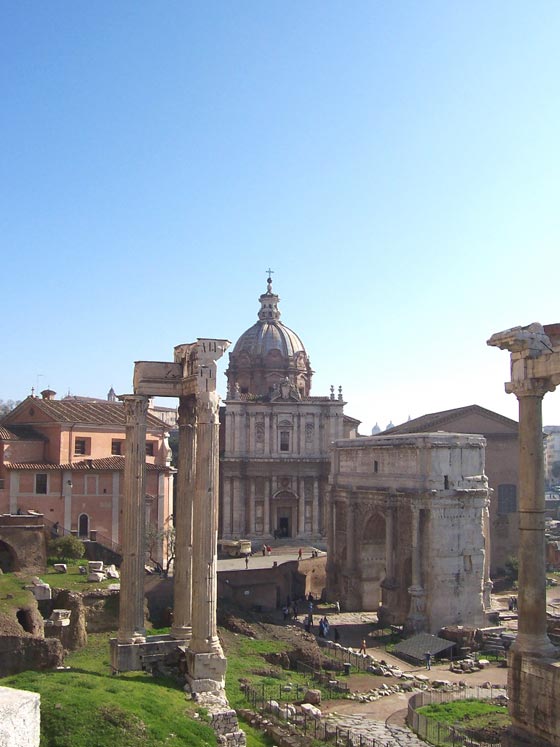
[[[0,747],[39,747],[41,696],[0,687]]]

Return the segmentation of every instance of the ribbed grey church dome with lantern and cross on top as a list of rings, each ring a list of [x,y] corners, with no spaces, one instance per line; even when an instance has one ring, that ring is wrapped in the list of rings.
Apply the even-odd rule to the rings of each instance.
[[[241,335],[229,355],[228,399],[274,398],[286,383],[292,396],[309,395],[313,373],[309,358],[299,336],[280,321],[279,300],[269,277],[266,293],[259,298],[258,321]]]

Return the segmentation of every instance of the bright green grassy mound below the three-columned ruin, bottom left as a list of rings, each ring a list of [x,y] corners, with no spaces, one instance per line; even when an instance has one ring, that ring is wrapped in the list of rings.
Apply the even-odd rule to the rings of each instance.
[[[173,680],[140,672],[110,674],[109,635],[89,636],[67,671],[22,672],[2,686],[41,695],[41,747],[206,747],[209,726],[187,717],[188,702]]]

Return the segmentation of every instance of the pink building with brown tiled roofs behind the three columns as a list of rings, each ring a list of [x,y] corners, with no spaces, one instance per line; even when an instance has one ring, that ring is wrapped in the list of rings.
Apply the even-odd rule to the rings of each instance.
[[[120,545],[124,476],[124,406],[41,392],[27,397],[0,424],[0,513],[44,514],[79,537]],[[146,523],[162,530],[172,513],[167,426],[148,415]],[[92,535],[94,532],[94,535]],[[161,560],[163,548],[157,555]]]

